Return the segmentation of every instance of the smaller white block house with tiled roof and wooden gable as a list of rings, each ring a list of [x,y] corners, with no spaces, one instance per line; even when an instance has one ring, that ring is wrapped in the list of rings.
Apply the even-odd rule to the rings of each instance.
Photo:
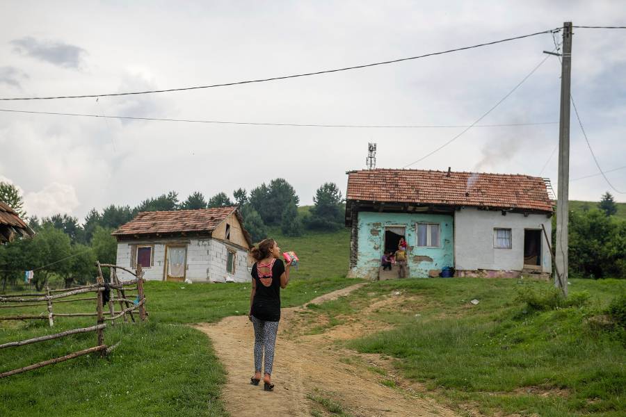
[[[144,278],[159,281],[250,280],[252,238],[236,207],[145,211],[113,231],[117,265],[141,265]],[[127,272],[120,278],[130,279]],[[123,274],[127,274],[125,277]]]

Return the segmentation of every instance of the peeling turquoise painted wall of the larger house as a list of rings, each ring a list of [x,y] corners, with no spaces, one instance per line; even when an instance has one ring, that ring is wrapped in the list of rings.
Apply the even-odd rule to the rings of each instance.
[[[440,247],[417,247],[417,223],[438,223]],[[428,277],[429,270],[454,266],[452,215],[426,213],[376,213],[360,211],[358,214],[358,258],[352,275],[375,278],[380,267],[380,257],[385,250],[385,227],[406,227],[408,267],[411,277]]]

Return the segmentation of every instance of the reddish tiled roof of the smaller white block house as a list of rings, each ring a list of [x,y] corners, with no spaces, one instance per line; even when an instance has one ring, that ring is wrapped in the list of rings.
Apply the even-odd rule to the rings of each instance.
[[[210,234],[228,215],[235,213],[243,228],[243,218],[236,207],[200,208],[198,210],[142,211],[113,231],[113,236],[150,236],[174,234]],[[252,238],[244,230],[250,246]]]

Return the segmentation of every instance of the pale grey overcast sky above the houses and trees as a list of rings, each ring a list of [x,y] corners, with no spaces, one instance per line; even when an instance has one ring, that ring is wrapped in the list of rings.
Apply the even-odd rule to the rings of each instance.
[[[624,25],[623,1],[4,2],[0,97],[179,88],[313,72],[510,38],[561,26]],[[560,34],[557,40],[560,41]],[[0,101],[0,108],[298,124],[472,124],[553,50],[552,35],[319,76],[96,99]],[[481,124],[559,120],[549,57]],[[572,95],[604,170],[626,165],[626,30],[575,29]],[[463,128],[354,129],[104,120],[0,112],[0,177],[29,215],[135,206],[175,190],[248,190],[276,177],[301,204],[348,170],[401,168]],[[572,112],[570,177],[597,174]],[[556,188],[558,124],[474,127],[410,167],[542,175]],[[626,191],[626,169],[607,174]],[[2,179],[2,178],[0,178]],[[597,201],[601,176],[571,181]],[[611,190],[616,200],[626,195]]]

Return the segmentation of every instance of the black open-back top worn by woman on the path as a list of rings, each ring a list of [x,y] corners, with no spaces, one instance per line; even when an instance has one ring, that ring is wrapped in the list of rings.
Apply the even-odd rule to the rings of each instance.
[[[272,265],[272,276],[259,278],[257,263],[252,265],[252,279],[255,280],[255,297],[252,299],[250,313],[259,320],[280,320],[280,276],[284,272],[284,263],[275,259]]]

